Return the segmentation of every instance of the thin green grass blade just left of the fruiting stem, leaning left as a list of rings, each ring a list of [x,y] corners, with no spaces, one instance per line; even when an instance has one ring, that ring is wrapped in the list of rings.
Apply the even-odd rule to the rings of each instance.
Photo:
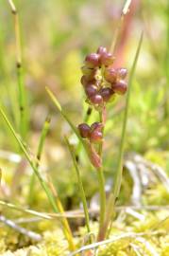
[[[66,144],[68,146],[70,155],[72,156],[72,160],[73,160],[74,167],[75,167],[75,170],[76,170],[76,177],[77,177],[78,187],[79,187],[81,200],[82,200],[82,203],[83,203],[84,214],[85,214],[86,227],[87,227],[88,233],[90,233],[91,229],[90,229],[90,217],[89,217],[88,205],[87,205],[86,195],[85,195],[84,188],[83,188],[83,183],[82,183],[82,180],[81,180],[81,177],[80,177],[80,172],[79,172],[79,169],[78,169],[78,166],[77,166],[77,163],[76,163],[76,154],[75,154],[73,146],[69,143],[69,140],[68,140],[67,137],[65,137],[65,141],[66,141]]]

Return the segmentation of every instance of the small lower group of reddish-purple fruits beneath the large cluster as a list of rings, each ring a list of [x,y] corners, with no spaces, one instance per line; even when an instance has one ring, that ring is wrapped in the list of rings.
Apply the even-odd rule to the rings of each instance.
[[[91,126],[87,123],[81,123],[78,125],[80,136],[88,138],[92,143],[98,143],[102,140],[103,124],[101,122],[93,122]]]

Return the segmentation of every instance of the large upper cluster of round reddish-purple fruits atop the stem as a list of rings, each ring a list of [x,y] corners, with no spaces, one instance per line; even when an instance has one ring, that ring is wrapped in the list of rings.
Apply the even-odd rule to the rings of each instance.
[[[87,102],[96,109],[117,94],[125,94],[127,91],[126,68],[114,68],[114,57],[106,47],[100,46],[96,53],[87,55],[85,65],[81,70],[83,76],[81,83],[84,87]]]

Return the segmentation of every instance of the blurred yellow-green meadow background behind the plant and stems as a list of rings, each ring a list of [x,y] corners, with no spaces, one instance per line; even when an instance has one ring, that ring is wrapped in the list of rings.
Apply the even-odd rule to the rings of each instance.
[[[110,47],[119,26],[124,1],[119,0],[29,0],[15,1],[19,12],[23,75],[27,95],[29,130],[27,145],[36,153],[42,124],[48,114],[52,121],[46,139],[42,167],[58,188],[68,208],[76,204],[77,185],[72,161],[63,135],[70,127],[55,111],[45,92],[49,86],[67,114],[77,125],[82,122],[86,103],[80,84],[85,55],[98,46]],[[131,11],[121,27],[115,50],[116,66],[127,67],[134,59],[141,31],[144,44],[132,84],[127,120],[127,155],[136,152],[161,164],[169,173],[169,4],[167,0],[133,0]],[[0,101],[18,130],[18,85],[13,16],[8,1],[0,2]],[[125,98],[119,97],[108,107],[104,164],[107,178],[115,172],[121,137]],[[90,123],[97,119],[92,115]],[[1,150],[20,153],[3,119],[0,118]],[[71,135],[71,134],[70,134]],[[77,143],[76,137],[71,141]],[[3,160],[1,160],[3,162]],[[81,153],[81,174],[91,197],[97,189],[96,175]],[[8,176],[16,167],[1,163]],[[8,171],[9,170],[9,171]],[[30,170],[25,172],[22,190],[26,193]],[[28,177],[28,178],[27,178]],[[11,182],[11,181],[10,181]],[[37,182],[38,183],[38,182]],[[37,190],[39,185],[36,184]],[[37,196],[42,196],[41,194]],[[43,198],[43,197],[42,197]],[[44,200],[44,199],[43,199]],[[73,202],[72,202],[73,201]],[[75,201],[75,202],[74,202]],[[43,202],[39,201],[39,204]],[[36,204],[37,206],[37,204]],[[38,206],[37,206],[38,207]]]

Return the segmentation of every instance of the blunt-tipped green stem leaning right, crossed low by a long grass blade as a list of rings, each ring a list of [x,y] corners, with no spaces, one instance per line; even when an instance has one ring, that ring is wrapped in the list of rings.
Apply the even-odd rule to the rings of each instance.
[[[46,118],[42,127],[42,133],[41,133],[41,137],[40,137],[40,141],[39,141],[39,145],[38,145],[38,151],[37,151],[37,161],[35,163],[36,168],[39,169],[39,165],[40,165],[40,160],[42,157],[42,150],[43,150],[43,145],[44,145],[44,140],[46,138],[46,135],[48,133],[49,130],[49,124],[50,124],[50,119]],[[30,178],[30,185],[29,185],[29,193],[28,193],[28,204],[31,205],[33,202],[33,197],[34,197],[34,187],[35,187],[35,179],[36,179],[36,175],[33,172]]]

